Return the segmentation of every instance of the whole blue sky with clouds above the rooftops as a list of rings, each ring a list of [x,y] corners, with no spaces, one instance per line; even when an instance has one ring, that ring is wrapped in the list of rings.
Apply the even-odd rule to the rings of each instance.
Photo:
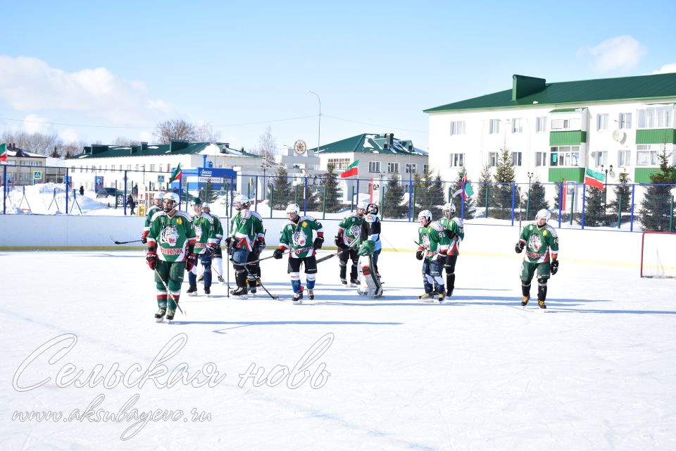
[[[0,132],[66,141],[149,140],[159,121],[184,118],[232,147],[257,147],[268,126],[280,147],[315,147],[309,89],[322,144],[394,132],[427,149],[423,109],[510,89],[515,73],[676,71],[674,1],[14,1],[2,11]]]

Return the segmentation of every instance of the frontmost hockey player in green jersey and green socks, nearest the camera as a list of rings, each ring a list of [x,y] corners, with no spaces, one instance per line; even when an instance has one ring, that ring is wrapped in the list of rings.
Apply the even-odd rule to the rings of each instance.
[[[197,261],[194,253],[195,231],[190,216],[184,211],[176,210],[178,194],[165,194],[163,203],[163,211],[153,215],[149,233],[146,235],[146,262],[155,272],[159,307],[155,314],[157,321],[161,321],[165,314],[168,320],[174,319],[184,271],[190,271]]]

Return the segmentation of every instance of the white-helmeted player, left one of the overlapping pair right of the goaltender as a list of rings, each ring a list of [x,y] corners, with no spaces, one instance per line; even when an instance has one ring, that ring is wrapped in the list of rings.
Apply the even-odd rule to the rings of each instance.
[[[444,245],[446,234],[439,221],[432,222],[432,211],[423,210],[418,214],[418,252],[415,258],[423,260],[423,285],[425,293],[420,295],[420,302],[434,302],[434,291],[439,295],[439,303],[444,302],[444,278],[442,268],[446,263],[448,245]],[[442,241],[443,240],[443,241]]]

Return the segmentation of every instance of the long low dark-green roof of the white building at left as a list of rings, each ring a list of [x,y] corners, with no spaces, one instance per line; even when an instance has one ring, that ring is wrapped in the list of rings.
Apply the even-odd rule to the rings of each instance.
[[[151,144],[142,143],[134,146],[113,146],[105,144],[92,144],[92,146],[84,147],[81,154],[69,156],[68,159],[93,159],[93,158],[114,158],[118,156],[166,156],[166,155],[186,155],[199,154],[207,146],[211,144],[219,145],[220,147],[227,146],[220,142],[187,142],[187,141],[172,141],[170,144]],[[233,156],[250,156],[254,158],[261,158],[261,156],[249,154],[242,150],[230,149],[227,147],[227,154]]]

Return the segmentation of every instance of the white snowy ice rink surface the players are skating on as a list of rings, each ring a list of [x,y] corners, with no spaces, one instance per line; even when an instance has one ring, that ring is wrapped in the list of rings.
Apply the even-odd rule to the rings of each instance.
[[[299,306],[268,259],[282,301],[200,287],[157,324],[141,251],[0,264],[3,450],[676,449],[676,281],[635,267],[562,259],[543,313],[519,306],[516,254],[461,255],[444,304],[417,302],[412,252],[382,254],[381,299],[325,261]]]

